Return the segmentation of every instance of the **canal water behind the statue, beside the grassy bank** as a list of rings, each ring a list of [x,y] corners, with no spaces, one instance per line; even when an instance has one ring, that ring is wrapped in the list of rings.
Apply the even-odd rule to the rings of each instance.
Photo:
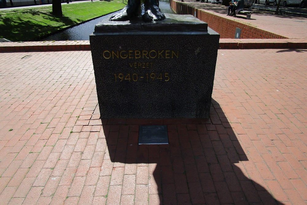
[[[169,1],[159,1],[159,7],[165,14],[174,14],[169,6]],[[111,15],[111,14],[110,14]],[[41,41],[82,41],[90,40],[89,35],[94,32],[95,25],[100,22],[104,17],[93,19],[89,22],[74,26],[59,33],[42,38]]]

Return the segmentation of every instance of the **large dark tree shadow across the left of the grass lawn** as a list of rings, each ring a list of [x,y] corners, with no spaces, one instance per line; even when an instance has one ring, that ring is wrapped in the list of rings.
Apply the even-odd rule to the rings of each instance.
[[[71,20],[69,17],[54,17],[49,13],[41,11],[26,10],[21,13],[33,15],[33,21],[25,20],[22,17],[1,17],[0,20],[2,23],[0,24],[0,30],[2,31],[1,36],[3,38],[9,39],[10,41],[32,41],[47,34],[58,32],[64,25],[71,26],[78,23]],[[47,23],[34,18],[34,16],[38,15],[43,15],[44,19],[56,22],[59,26],[48,25]]]

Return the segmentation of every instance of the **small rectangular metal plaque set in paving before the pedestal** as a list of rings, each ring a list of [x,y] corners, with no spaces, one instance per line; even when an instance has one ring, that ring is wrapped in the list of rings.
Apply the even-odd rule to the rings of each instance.
[[[167,125],[140,125],[138,144],[169,144]]]

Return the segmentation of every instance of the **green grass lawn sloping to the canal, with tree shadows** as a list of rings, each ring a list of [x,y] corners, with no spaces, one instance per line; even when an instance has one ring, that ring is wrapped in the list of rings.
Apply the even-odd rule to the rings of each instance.
[[[124,1],[126,3],[126,1]],[[52,16],[52,6],[0,11],[0,38],[31,41],[68,26],[122,9],[121,0],[62,4],[63,17]]]

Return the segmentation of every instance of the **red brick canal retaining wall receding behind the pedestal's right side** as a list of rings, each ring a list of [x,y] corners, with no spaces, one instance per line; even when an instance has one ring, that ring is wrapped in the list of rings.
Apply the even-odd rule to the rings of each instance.
[[[177,14],[195,15],[196,18],[208,23],[208,26],[220,34],[220,38],[235,38],[235,29],[241,29],[240,38],[257,39],[286,39],[287,37],[272,32],[258,29],[256,27],[237,22],[219,15],[188,6],[176,0],[170,0],[170,6]]]

